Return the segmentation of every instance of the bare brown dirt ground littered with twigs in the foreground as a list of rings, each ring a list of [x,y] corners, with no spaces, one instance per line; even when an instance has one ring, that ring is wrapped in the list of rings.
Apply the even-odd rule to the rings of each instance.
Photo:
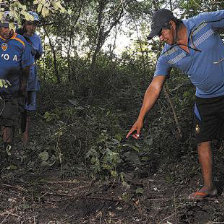
[[[0,223],[224,223],[222,195],[204,201],[187,200],[191,186],[164,179],[120,183],[64,179],[57,171],[39,175],[13,174],[0,183]],[[9,180],[9,176],[7,177]],[[144,189],[136,194],[135,187]]]

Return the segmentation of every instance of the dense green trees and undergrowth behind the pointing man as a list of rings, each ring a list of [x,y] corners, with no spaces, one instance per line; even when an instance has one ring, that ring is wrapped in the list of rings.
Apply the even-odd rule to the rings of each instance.
[[[129,171],[149,176],[161,163],[181,160],[195,150],[194,88],[177,70],[166,87],[182,138],[163,93],[145,119],[141,139],[125,136],[138,116],[161,49],[157,41],[146,41],[153,10],[171,8],[187,18],[221,9],[222,1],[61,1],[66,13],[52,12],[51,6],[43,13],[42,3],[35,3],[42,12],[38,31],[44,45],[37,113],[40,123],[51,127],[48,146],[37,151],[43,165],[123,180]],[[118,56],[115,40],[122,32],[137,37]]]

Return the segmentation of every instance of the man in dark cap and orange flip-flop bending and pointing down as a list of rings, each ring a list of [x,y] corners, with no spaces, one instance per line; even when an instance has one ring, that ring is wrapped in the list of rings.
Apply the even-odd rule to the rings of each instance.
[[[165,46],[138,119],[127,134],[127,138],[139,138],[145,114],[158,99],[170,70],[183,71],[196,87],[196,139],[204,180],[204,186],[191,194],[191,199],[217,194],[212,178],[211,140],[224,137],[224,45],[216,32],[223,27],[224,10],[201,13],[187,20],[177,19],[167,9],[154,13],[148,39],[159,36]]]

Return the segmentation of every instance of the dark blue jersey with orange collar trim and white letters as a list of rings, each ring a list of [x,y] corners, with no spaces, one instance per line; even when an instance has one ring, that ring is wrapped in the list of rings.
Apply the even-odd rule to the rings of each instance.
[[[0,79],[6,79],[11,84],[8,88],[0,88],[0,93],[14,94],[20,88],[22,69],[34,61],[26,40],[17,33],[7,40],[0,36],[0,46]]]

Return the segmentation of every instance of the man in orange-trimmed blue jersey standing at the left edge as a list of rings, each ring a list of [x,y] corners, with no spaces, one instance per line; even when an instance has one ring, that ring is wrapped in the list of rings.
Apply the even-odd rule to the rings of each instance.
[[[7,151],[24,108],[29,68],[34,62],[26,40],[9,28],[9,21],[9,12],[5,12],[0,22],[0,126]]]

